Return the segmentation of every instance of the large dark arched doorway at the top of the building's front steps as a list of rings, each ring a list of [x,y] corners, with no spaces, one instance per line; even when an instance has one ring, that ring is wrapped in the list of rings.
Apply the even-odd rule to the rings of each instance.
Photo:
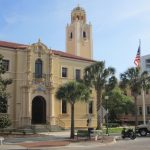
[[[42,96],[32,100],[32,124],[46,123],[46,101]]]

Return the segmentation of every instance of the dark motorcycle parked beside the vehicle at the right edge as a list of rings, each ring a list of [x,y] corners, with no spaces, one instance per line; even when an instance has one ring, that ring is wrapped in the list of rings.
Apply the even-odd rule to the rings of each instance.
[[[134,140],[136,138],[136,133],[133,131],[133,129],[123,128],[122,132],[121,132],[121,136],[123,139],[130,138],[130,139]]]

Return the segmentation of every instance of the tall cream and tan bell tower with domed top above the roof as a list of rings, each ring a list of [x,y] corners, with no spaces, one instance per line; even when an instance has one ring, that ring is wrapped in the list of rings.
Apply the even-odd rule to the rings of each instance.
[[[93,59],[92,25],[86,23],[86,12],[77,6],[71,12],[71,23],[66,27],[68,53]]]

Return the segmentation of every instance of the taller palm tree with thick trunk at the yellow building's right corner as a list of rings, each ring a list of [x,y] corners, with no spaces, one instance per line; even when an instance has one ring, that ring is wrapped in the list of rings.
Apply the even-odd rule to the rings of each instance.
[[[105,62],[99,61],[85,68],[84,82],[89,87],[94,87],[97,98],[97,129],[102,128],[99,110],[102,105],[102,94],[107,90],[115,87],[117,79],[114,76],[115,69],[112,67],[105,68]]]

